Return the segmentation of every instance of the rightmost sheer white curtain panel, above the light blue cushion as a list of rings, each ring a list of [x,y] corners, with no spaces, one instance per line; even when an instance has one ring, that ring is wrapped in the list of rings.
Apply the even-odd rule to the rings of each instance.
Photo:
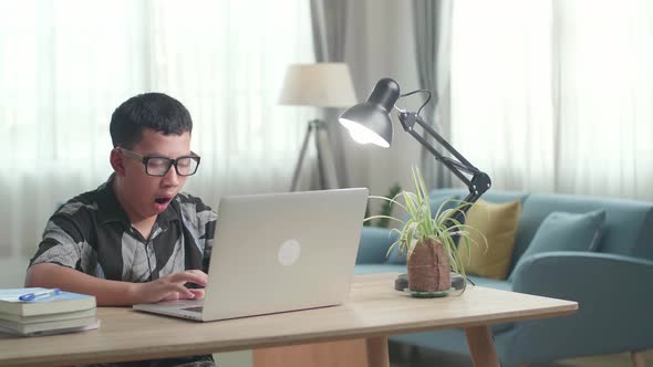
[[[559,189],[653,200],[653,2],[554,4]]]

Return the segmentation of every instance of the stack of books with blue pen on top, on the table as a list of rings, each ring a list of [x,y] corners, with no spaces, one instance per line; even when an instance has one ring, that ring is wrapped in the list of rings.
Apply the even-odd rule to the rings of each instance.
[[[99,326],[92,295],[40,287],[0,290],[0,333],[39,336]]]

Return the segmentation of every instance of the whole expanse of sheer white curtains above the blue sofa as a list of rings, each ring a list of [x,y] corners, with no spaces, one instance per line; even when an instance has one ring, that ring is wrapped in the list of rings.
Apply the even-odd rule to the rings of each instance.
[[[653,199],[653,3],[454,4],[453,143],[498,189]]]

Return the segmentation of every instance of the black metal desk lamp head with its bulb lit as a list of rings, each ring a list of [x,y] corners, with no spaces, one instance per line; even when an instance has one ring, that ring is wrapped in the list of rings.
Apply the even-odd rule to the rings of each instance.
[[[400,97],[400,85],[392,78],[380,80],[366,102],[348,108],[340,115],[352,139],[387,148],[392,144],[390,112]]]

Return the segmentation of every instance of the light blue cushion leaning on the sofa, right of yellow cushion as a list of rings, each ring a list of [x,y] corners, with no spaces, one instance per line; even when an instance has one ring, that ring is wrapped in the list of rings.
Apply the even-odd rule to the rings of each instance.
[[[542,221],[515,269],[528,256],[550,251],[595,251],[605,210],[588,213],[553,211]]]

